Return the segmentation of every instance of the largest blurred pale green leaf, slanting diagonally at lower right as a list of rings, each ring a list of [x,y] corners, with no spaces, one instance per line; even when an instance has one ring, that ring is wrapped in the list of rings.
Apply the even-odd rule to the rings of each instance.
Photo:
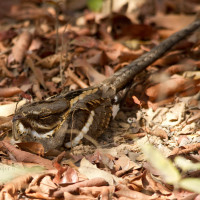
[[[149,163],[160,173],[166,183],[178,186],[181,176],[178,169],[169,159],[165,158],[150,144],[144,145],[142,151]]]

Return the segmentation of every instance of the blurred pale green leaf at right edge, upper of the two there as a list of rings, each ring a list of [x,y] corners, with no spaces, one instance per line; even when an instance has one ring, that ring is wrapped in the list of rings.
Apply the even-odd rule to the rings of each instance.
[[[184,172],[189,170],[200,170],[200,163],[192,163],[190,160],[181,156],[177,156],[174,160],[175,164],[180,167]]]

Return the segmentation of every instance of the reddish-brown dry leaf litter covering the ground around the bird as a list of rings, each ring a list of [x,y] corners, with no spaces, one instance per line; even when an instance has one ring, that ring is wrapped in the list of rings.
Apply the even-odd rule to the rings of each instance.
[[[14,169],[0,198],[198,199],[198,31],[134,78],[98,147],[44,154],[38,143],[14,146],[16,107],[101,82],[189,24],[200,8],[198,1],[144,1],[135,12],[134,3],[113,1],[111,14],[106,6],[95,13],[69,2],[0,2],[0,171]],[[142,151],[149,143],[161,153]],[[45,170],[26,170],[38,165]]]

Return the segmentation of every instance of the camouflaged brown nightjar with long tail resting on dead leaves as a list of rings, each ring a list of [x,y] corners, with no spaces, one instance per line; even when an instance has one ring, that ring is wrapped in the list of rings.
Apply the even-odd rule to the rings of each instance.
[[[96,86],[64,92],[20,107],[13,118],[14,139],[41,143],[48,151],[61,146],[73,147],[86,134],[97,138],[112,119],[117,93],[126,88],[136,74],[199,26],[200,20],[194,21]],[[70,139],[72,133],[74,136]]]

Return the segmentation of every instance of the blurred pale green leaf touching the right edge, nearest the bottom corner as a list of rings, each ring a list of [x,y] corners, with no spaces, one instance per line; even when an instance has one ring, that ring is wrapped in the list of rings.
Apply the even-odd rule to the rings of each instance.
[[[180,181],[180,187],[200,194],[200,178],[184,178]]]

